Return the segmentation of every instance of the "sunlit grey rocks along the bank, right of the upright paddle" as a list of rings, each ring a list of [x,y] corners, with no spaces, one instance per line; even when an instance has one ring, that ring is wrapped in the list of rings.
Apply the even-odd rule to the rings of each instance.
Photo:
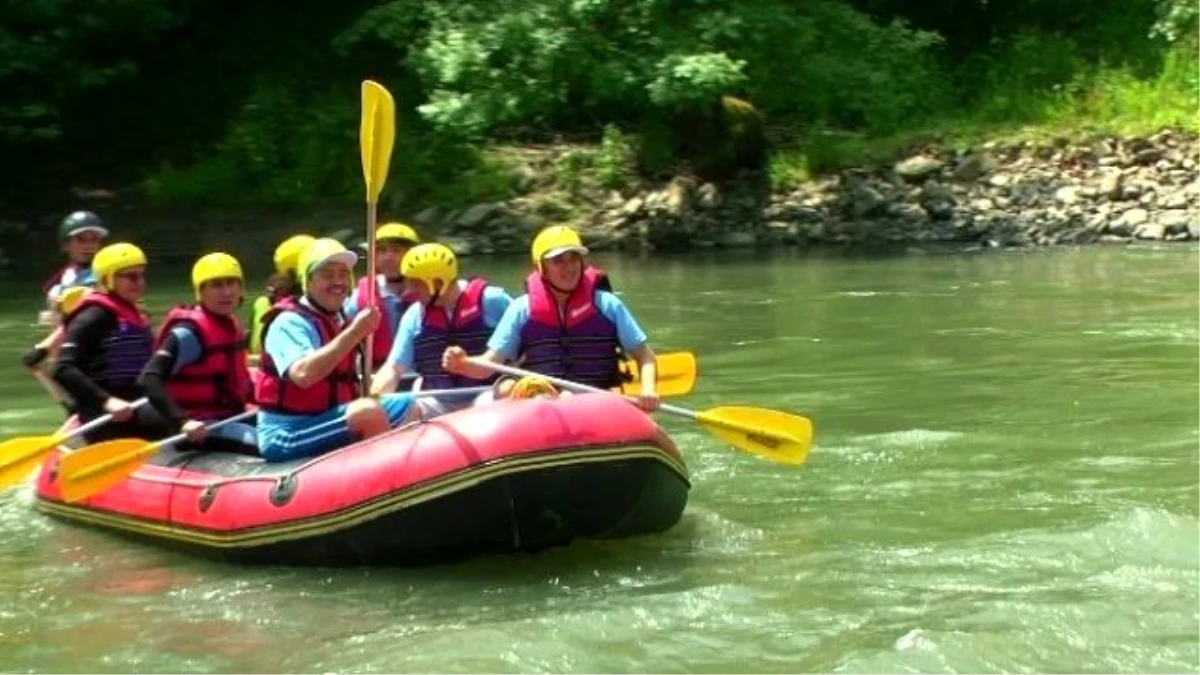
[[[524,251],[547,222],[572,222],[601,249],[1177,241],[1200,239],[1198,161],[1200,137],[1176,131],[989,143],[930,148],[784,191],[689,178],[572,195],[534,187],[413,220],[463,252]]]

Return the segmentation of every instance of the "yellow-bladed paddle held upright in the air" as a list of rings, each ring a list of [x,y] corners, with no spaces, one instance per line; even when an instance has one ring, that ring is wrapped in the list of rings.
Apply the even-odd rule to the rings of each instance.
[[[382,84],[362,80],[362,120],[359,125],[359,147],[362,154],[362,180],[367,189],[367,307],[376,306],[374,231],[379,192],[388,180],[391,147],[396,141],[396,103]],[[374,333],[367,334],[364,362],[370,366]],[[370,370],[370,368],[364,369]],[[370,372],[362,378],[362,395],[371,389]]]

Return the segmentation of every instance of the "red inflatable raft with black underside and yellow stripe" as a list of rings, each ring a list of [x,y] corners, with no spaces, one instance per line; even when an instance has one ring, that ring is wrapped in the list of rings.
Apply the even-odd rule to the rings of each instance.
[[[679,521],[690,489],[674,443],[608,394],[474,407],[292,462],[168,448],[74,504],[58,458],[37,478],[40,510],[256,563],[403,565],[649,534]]]

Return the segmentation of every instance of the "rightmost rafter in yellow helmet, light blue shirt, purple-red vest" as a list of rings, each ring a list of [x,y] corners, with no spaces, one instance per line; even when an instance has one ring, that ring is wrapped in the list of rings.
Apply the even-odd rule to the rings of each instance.
[[[482,358],[492,363],[522,360],[540,375],[590,384],[619,387],[620,351],[637,360],[644,411],[659,407],[658,360],[646,333],[625,304],[608,291],[607,277],[584,262],[588,249],[570,227],[552,226],[538,233],[530,247],[534,270],[526,277],[526,294],[512,300],[487,341]],[[443,368],[456,375],[482,378],[491,371],[467,360],[467,351],[451,346]],[[497,398],[509,394],[506,380]]]

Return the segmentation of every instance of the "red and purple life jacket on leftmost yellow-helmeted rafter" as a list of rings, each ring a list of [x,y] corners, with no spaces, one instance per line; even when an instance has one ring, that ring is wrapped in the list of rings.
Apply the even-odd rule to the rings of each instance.
[[[96,357],[90,363],[79,365],[101,389],[127,395],[154,353],[150,315],[109,293],[89,291],[66,317],[66,323],[70,325],[79,312],[92,306],[103,307],[115,316],[116,328],[101,339]]]

